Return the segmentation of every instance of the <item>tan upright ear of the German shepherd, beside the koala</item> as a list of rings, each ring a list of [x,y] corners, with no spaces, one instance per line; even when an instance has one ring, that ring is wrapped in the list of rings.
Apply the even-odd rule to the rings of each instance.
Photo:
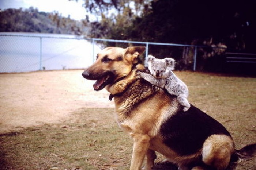
[[[145,51],[146,47],[127,47],[124,58],[133,64],[138,63],[138,56]]]

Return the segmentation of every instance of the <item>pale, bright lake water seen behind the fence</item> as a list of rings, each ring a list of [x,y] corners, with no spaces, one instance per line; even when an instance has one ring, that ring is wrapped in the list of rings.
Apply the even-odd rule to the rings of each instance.
[[[0,72],[86,68],[100,50],[74,35],[0,32]]]

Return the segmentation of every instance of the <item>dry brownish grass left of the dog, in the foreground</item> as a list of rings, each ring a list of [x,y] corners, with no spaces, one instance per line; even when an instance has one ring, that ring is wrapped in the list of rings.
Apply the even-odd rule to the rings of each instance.
[[[91,113],[102,120],[87,119]],[[124,166],[122,160],[129,159],[132,143],[110,119],[112,114],[113,109],[79,109],[66,122],[1,135],[1,168]]]

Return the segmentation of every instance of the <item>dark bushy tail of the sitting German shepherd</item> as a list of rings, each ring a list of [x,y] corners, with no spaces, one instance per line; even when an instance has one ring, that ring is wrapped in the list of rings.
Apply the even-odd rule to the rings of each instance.
[[[249,144],[240,150],[236,150],[231,156],[230,165],[228,170],[233,170],[243,160],[256,157],[256,143]]]

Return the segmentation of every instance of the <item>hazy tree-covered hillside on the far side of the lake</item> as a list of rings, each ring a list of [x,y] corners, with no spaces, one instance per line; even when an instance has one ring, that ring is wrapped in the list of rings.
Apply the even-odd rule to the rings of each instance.
[[[37,9],[6,9],[0,12],[0,32],[41,32],[85,35],[90,23],[61,17],[58,13],[39,12]]]

